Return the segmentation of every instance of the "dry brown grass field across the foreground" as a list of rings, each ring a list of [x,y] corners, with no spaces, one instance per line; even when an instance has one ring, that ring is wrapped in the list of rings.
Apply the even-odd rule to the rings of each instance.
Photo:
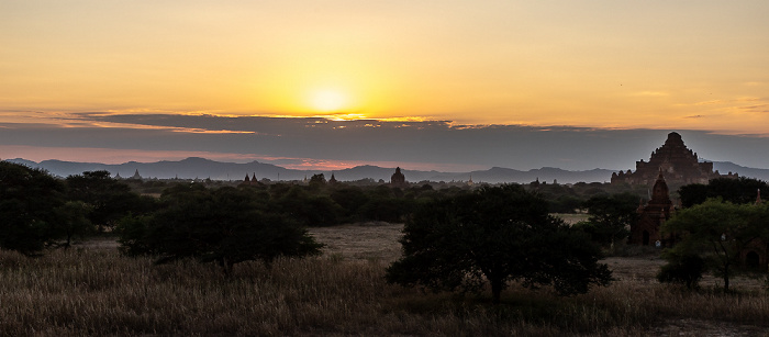
[[[0,335],[762,336],[769,297],[758,280],[734,294],[706,279],[696,293],[654,280],[654,254],[610,258],[611,287],[573,297],[511,287],[424,293],[384,283],[400,225],[313,228],[317,258],[257,262],[224,278],[215,266],[118,255],[109,240],[29,259],[0,251]]]

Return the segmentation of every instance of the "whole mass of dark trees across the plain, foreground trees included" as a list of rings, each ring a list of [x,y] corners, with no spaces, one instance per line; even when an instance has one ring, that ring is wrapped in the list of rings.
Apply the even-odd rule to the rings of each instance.
[[[499,302],[512,280],[564,294],[606,285],[611,273],[598,263],[600,247],[626,239],[643,201],[639,191],[601,183],[359,187],[323,175],[307,184],[152,188],[163,190],[143,195],[108,171],[56,179],[2,161],[0,248],[35,256],[46,247],[69,247],[77,237],[108,234],[119,237],[127,256],[149,255],[158,263],[193,258],[231,274],[244,261],[269,267],[277,257],[320,254],[322,244],[309,236],[309,226],[402,222],[404,258],[389,269],[389,281],[470,291],[488,281]],[[711,270],[728,289],[745,249],[769,240],[769,209],[745,205],[758,191],[769,193],[766,182],[745,178],[681,188],[688,210],[662,228],[680,243],[666,252],[670,265],[660,281],[692,287]],[[576,225],[550,214],[577,210],[588,220]],[[715,254],[709,250],[714,246],[721,247]]]

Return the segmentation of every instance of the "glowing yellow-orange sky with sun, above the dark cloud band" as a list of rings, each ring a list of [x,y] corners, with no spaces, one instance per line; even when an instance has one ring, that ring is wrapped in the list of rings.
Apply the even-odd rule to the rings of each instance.
[[[16,1],[0,4],[0,108],[767,134],[767,10]]]

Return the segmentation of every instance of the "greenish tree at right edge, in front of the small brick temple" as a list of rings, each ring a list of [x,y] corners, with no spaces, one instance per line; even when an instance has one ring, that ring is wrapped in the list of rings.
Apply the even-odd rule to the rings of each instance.
[[[671,265],[678,257],[698,256],[706,268],[724,280],[729,291],[729,278],[744,271],[740,252],[751,243],[769,239],[769,207],[766,204],[734,204],[721,199],[679,211],[662,225],[666,234],[680,234],[682,239],[665,257]]]

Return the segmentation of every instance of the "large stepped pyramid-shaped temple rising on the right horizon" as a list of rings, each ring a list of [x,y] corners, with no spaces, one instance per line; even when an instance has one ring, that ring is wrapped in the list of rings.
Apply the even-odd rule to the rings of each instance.
[[[665,144],[651,153],[649,161],[642,159],[635,162],[635,172],[627,170],[627,172],[612,173],[612,184],[650,186],[656,181],[655,178],[659,170],[662,170],[667,183],[671,186],[707,183],[715,178],[738,177],[736,173],[732,175],[732,172],[721,175],[718,171],[713,171],[713,162],[700,162],[696,153],[687,148],[683,145],[681,135],[676,132],[668,134],[668,139],[665,141]]]

